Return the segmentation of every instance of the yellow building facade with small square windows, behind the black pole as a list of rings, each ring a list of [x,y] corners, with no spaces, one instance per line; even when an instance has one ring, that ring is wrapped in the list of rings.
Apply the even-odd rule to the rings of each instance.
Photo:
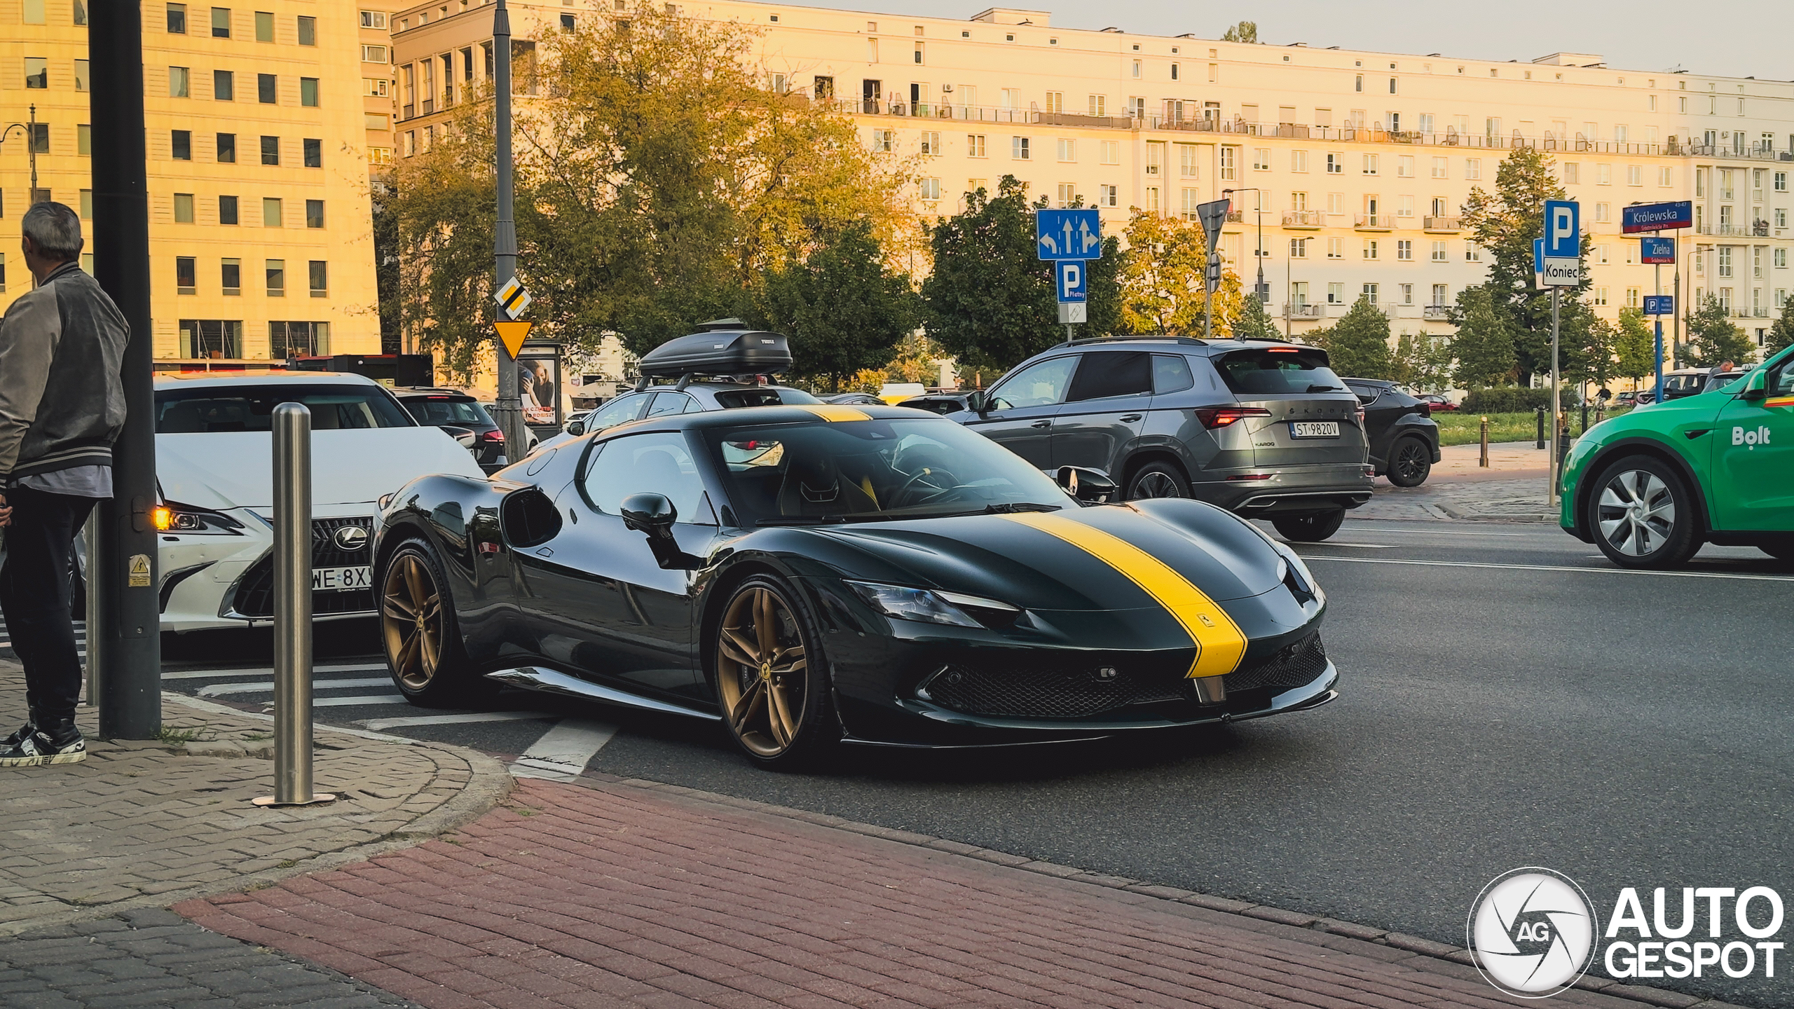
[[[91,215],[86,18],[84,0],[0,4],[0,126],[38,122],[30,154],[25,131],[0,144],[0,309],[32,284],[29,205]],[[379,352],[359,34],[344,2],[144,4],[160,368]]]

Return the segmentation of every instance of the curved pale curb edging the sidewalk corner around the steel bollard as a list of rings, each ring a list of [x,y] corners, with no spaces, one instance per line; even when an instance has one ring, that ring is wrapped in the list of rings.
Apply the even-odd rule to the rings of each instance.
[[[222,704],[212,704],[206,700],[192,698],[179,693],[163,693],[163,704],[174,702],[187,707],[196,707],[210,713],[228,713],[242,715],[246,718],[273,722],[273,715],[258,715],[253,711],[240,711],[235,707],[226,707]],[[513,779],[504,765],[479,750],[466,747],[456,747],[450,743],[431,743],[423,740],[405,740],[402,736],[388,736],[382,733],[368,733],[362,729],[337,729],[332,725],[316,725],[318,733],[337,733],[348,736],[359,736],[364,740],[373,740],[380,743],[402,743],[407,747],[420,747],[425,750],[436,750],[452,756],[468,768],[468,783],[448,797],[443,804],[423,813],[422,817],[411,820],[404,828],[388,833],[377,840],[352,844],[348,847],[339,847],[334,851],[323,851],[312,855],[310,858],[298,858],[287,867],[266,869],[262,873],[249,873],[242,876],[233,876],[230,880],[221,880],[217,883],[206,883],[197,887],[188,887],[183,891],[165,891],[160,894],[142,894],[136,898],[127,898],[122,901],[111,901],[104,905],[70,908],[61,914],[50,914],[43,917],[32,917],[25,921],[0,925],[0,937],[20,935],[23,932],[36,932],[39,928],[56,928],[59,925],[70,925],[75,921],[93,921],[102,917],[113,917],[127,910],[142,908],[165,908],[174,907],[181,901],[194,898],[210,898],[219,894],[233,894],[244,891],[260,891],[271,887],[282,880],[292,876],[303,876],[307,873],[318,873],[323,869],[334,869],[337,865],[346,865],[350,862],[364,862],[375,855],[384,855],[388,851],[396,851],[400,847],[411,847],[422,844],[432,837],[448,833],[466,822],[472,822],[488,812],[492,812],[506,795],[511,794]],[[178,752],[172,750],[170,752]],[[438,758],[440,767],[440,758]]]

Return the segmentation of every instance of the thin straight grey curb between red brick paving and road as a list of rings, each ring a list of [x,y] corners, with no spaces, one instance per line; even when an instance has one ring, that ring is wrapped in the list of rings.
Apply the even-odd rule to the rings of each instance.
[[[646,777],[617,777],[599,772],[585,772],[585,776],[569,781],[567,785],[578,785],[585,788],[596,788],[594,783],[603,785],[621,785],[626,788],[640,788],[646,792],[660,792],[666,795],[680,795],[684,799],[692,799],[698,803],[709,803],[716,806],[728,806],[734,810],[762,813],[770,817],[800,820],[822,828],[841,829],[849,833],[858,833],[863,837],[875,837],[883,840],[892,840],[897,844],[908,844],[913,847],[927,847],[931,851],[942,851],[947,855],[963,855],[967,858],[978,858],[980,862],[990,862],[996,865],[1023,869],[1026,873],[1039,873],[1042,876],[1051,876],[1055,880],[1066,880],[1073,883],[1085,883],[1093,887],[1105,887],[1112,891],[1125,891],[1130,894],[1141,894],[1146,898],[1157,898],[1170,903],[1182,903],[1189,907],[1198,907],[1209,912],[1229,914],[1236,917],[1249,917],[1261,923],[1281,925],[1302,932],[1317,932],[1322,935],[1337,935],[1340,939],[1353,939],[1360,943],[1371,943],[1378,946],[1387,946],[1392,950],[1401,950],[1412,953],[1414,957],[1406,964],[1414,970],[1433,970],[1439,973],[1462,975],[1466,968],[1475,968],[1475,959],[1469,950],[1462,946],[1451,946],[1448,943],[1435,943],[1432,939],[1423,939],[1419,935],[1406,935],[1403,932],[1389,932],[1385,928],[1374,928],[1369,925],[1356,925],[1351,921],[1338,921],[1333,917],[1322,917],[1315,914],[1306,914],[1299,910],[1286,910],[1270,905],[1258,905],[1252,901],[1240,901],[1220,898],[1213,894],[1202,894],[1197,891],[1186,891],[1180,887],[1163,887],[1157,883],[1146,883],[1141,880],[1130,880],[1127,876],[1110,876],[1107,873],[1091,873],[1078,869],[1075,865],[1060,865],[1057,862],[1044,862],[1039,858],[1028,858],[1024,855],[1012,855],[1008,851],[996,851],[990,847],[978,847],[974,844],[963,844],[958,840],[947,840],[944,837],[933,837],[926,833],[915,833],[897,828],[884,828],[877,824],[865,824],[858,820],[849,820],[845,817],[836,817],[829,813],[813,813],[809,810],[795,810],[791,806],[775,806],[771,803],[761,803],[757,799],[739,799],[734,795],[721,795],[716,792],[703,792],[700,788],[687,788],[684,785],[667,785],[664,781],[649,781]],[[1240,923],[1245,925],[1245,923]],[[1263,926],[1258,926],[1263,928]],[[1288,935],[1299,939],[1299,935]],[[1744,1009],[1731,1002],[1720,1002],[1717,998],[1699,998],[1694,995],[1683,995],[1679,991],[1663,991],[1656,987],[1645,987],[1638,984],[1624,984],[1606,977],[1582,975],[1575,980],[1572,987],[1582,991],[1595,991],[1616,1000],[1634,1002],[1638,1005],[1656,1005],[1661,1009]]]

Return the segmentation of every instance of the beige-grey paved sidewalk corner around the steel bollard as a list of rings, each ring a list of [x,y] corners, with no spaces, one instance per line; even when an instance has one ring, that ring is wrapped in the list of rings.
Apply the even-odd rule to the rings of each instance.
[[[0,662],[7,729],[23,695]],[[273,792],[267,720],[163,695],[163,741],[95,740],[88,707],[77,722],[86,761],[0,770],[0,937],[364,858],[484,813],[511,781],[461,747],[319,727],[314,779],[341,799],[264,810],[249,799]]]

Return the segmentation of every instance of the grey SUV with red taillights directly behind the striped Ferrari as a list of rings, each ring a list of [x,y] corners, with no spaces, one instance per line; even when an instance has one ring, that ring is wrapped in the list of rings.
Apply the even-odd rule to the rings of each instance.
[[[1096,469],[1123,499],[1195,497],[1292,540],[1371,499],[1363,409],[1319,347],[1076,339],[947,417],[1042,470]]]

